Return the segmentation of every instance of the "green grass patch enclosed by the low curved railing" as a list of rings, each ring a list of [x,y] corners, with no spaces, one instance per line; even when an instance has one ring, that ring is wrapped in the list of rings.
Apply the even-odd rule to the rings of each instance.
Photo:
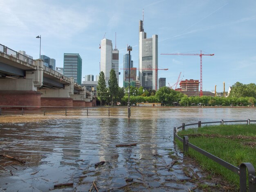
[[[189,142],[201,149],[239,167],[241,163],[252,163],[256,168],[256,125],[220,125],[187,129],[178,135],[189,136]],[[183,143],[175,139],[178,147]],[[222,175],[231,184],[239,186],[239,176],[218,163],[189,148],[189,156],[194,157],[204,170]]]

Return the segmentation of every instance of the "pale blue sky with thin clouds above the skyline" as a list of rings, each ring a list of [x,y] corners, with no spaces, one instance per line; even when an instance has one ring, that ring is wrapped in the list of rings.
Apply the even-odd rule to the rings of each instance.
[[[180,79],[200,80],[200,56],[161,53],[214,54],[202,56],[203,91],[223,92],[236,82],[256,83],[255,0],[0,0],[0,44],[39,58],[56,59],[79,53],[82,77],[99,75],[101,39],[119,49],[119,69],[127,45],[139,67],[139,20],[147,37],[158,35],[158,78],[172,86]],[[115,32],[117,33],[115,42]],[[123,87],[123,70],[119,86]],[[84,79],[82,79],[84,80]]]

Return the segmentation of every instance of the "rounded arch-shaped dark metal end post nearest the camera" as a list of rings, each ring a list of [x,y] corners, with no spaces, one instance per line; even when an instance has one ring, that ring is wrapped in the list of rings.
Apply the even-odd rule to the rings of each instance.
[[[242,163],[239,167],[240,192],[246,192],[246,168],[248,170],[249,192],[256,192],[255,169],[251,163]]]

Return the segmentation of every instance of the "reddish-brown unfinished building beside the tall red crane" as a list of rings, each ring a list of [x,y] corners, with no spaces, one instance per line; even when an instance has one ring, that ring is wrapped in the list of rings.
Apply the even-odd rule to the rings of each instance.
[[[182,92],[188,97],[199,95],[199,80],[182,80],[180,81],[180,88],[175,89],[175,91]]]

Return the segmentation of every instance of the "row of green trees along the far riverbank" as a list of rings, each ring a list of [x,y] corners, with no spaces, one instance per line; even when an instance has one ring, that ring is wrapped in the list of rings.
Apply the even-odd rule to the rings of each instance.
[[[103,71],[99,74],[97,85],[97,99],[101,105],[121,105],[128,104],[128,87],[119,87],[114,69],[110,71],[108,88],[106,87],[105,75]],[[161,87],[158,91],[144,90],[143,87],[136,88],[130,86],[130,104],[133,103],[162,103],[162,105],[207,105],[207,106],[230,106],[230,105],[254,105],[256,103],[256,85],[250,83],[243,85],[235,83],[232,86],[228,97],[194,96],[188,97],[181,92],[177,92],[169,87]]]

